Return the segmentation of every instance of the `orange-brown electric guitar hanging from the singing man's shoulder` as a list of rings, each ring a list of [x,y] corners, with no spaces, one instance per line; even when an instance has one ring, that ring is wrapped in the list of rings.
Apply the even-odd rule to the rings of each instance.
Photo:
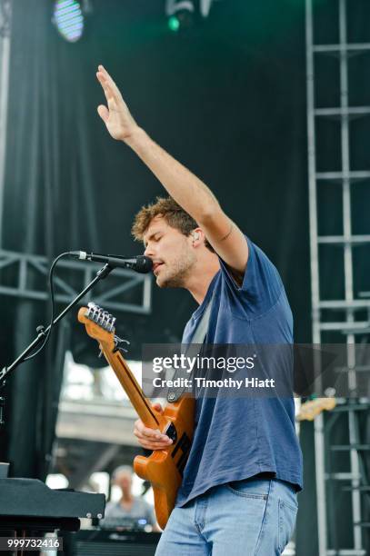
[[[99,343],[106,361],[114,370],[145,426],[159,429],[173,440],[168,448],[155,450],[149,457],[138,455],[134,460],[135,473],[152,484],[156,520],[164,529],[175,507],[176,493],[190,452],[195,400],[182,396],[177,402],[168,403],[163,413],[155,411],[125,362],[121,346],[123,341],[115,336],[115,318],[95,303],[89,303],[88,307],[79,310],[78,320],[85,324],[88,335]]]

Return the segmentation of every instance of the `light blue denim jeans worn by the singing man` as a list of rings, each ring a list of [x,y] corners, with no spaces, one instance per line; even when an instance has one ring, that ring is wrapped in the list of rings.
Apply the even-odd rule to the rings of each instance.
[[[278,555],[294,531],[297,509],[287,482],[222,484],[172,511],[155,556]]]

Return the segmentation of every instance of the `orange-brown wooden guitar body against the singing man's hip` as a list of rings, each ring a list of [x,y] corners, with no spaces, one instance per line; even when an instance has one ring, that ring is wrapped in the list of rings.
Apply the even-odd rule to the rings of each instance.
[[[183,397],[168,404],[163,416],[173,423],[176,440],[165,450],[155,450],[149,457],[136,456],[137,475],[152,484],[155,494],[155,516],[159,526],[165,524],[175,507],[177,491],[183,480],[194,432],[195,400]]]

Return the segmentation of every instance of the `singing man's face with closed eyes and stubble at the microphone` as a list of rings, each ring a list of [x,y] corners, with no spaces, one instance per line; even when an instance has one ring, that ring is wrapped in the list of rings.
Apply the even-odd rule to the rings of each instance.
[[[153,273],[160,288],[185,287],[196,262],[192,238],[172,228],[162,216],[155,216],[144,234],[145,255],[153,261]]]

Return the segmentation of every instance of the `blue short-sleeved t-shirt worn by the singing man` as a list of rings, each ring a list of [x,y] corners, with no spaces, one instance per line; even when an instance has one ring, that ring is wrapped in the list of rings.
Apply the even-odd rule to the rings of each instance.
[[[183,343],[191,342],[212,295],[206,343],[293,343],[293,317],[279,273],[259,247],[248,238],[247,242],[242,285],[237,286],[220,260],[220,271],[185,326]],[[272,472],[276,479],[302,490],[293,396],[199,397],[195,407],[195,435],[176,506],[218,484],[261,472]]]

